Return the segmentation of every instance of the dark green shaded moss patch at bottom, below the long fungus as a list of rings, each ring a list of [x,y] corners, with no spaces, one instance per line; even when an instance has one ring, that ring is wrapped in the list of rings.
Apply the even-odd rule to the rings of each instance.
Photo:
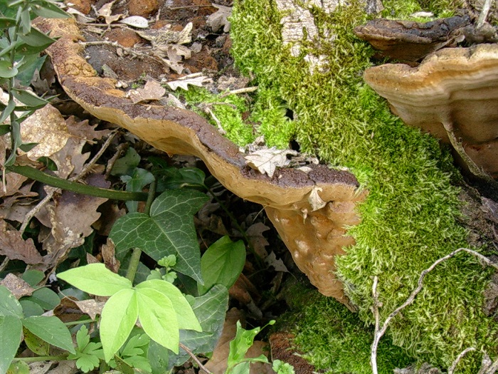
[[[279,318],[278,327],[295,334],[304,358],[325,373],[370,374],[373,328],[334,298],[290,282],[286,293],[292,310]],[[379,373],[391,374],[394,368],[410,365],[413,358],[386,338],[378,347],[377,362]]]

